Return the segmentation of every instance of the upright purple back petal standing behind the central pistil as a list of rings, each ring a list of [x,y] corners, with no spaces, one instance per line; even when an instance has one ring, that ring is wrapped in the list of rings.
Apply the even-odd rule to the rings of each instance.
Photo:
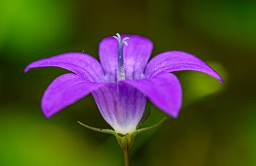
[[[138,35],[121,35],[128,46],[124,46],[125,75],[127,79],[136,80],[143,75],[145,66],[152,53],[150,39]],[[113,37],[106,37],[99,43],[99,59],[109,82],[116,82],[118,66],[118,42]]]

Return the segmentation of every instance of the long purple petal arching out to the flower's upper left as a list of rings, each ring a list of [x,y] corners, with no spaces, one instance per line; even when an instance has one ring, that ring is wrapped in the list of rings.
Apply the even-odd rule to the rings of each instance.
[[[92,82],[102,82],[104,73],[97,59],[85,53],[64,53],[54,57],[40,59],[26,66],[25,72],[30,68],[56,66],[65,68]]]

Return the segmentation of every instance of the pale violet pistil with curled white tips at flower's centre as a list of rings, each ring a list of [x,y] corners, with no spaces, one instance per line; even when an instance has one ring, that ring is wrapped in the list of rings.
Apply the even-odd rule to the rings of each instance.
[[[124,44],[125,46],[128,46],[126,39],[129,39],[129,37],[125,37],[125,39],[121,39],[121,36],[119,33],[116,34],[116,36],[113,36],[118,41],[118,71],[117,71],[117,84],[119,81],[125,80],[125,62],[124,62],[124,53],[123,48]]]

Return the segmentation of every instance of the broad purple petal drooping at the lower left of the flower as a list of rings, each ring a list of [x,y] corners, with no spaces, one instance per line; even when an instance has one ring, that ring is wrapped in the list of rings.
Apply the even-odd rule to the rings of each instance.
[[[46,118],[77,102],[91,91],[108,83],[88,82],[83,77],[68,73],[57,77],[42,97],[41,107]]]

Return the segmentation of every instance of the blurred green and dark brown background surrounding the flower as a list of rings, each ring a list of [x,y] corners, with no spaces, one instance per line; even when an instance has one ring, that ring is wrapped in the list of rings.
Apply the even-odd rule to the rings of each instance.
[[[256,1],[3,0],[0,1],[0,165],[123,165],[113,136],[81,127],[109,127],[91,95],[47,120],[40,100],[61,68],[29,63],[83,50],[98,58],[104,37],[138,34],[152,56],[184,50],[207,62],[224,83],[195,71],[182,82],[177,119],[152,107],[138,135],[132,165],[256,165]]]

